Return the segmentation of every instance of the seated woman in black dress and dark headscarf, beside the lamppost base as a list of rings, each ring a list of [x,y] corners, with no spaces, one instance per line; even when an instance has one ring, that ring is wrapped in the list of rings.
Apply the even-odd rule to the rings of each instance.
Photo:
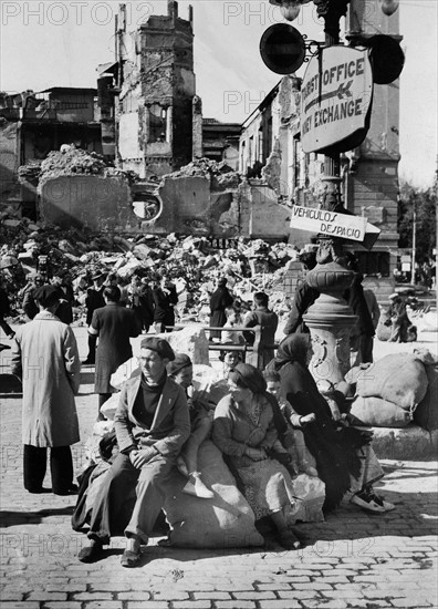
[[[373,491],[384,472],[369,446],[372,434],[344,422],[335,422],[332,411],[307,370],[312,357],[309,334],[291,334],[279,347],[268,370],[280,373],[282,393],[302,416],[315,414],[303,425],[307,448],[316,460],[319,476],[325,483],[324,509],[335,508],[346,493],[351,502],[371,512],[389,512],[394,505]]]

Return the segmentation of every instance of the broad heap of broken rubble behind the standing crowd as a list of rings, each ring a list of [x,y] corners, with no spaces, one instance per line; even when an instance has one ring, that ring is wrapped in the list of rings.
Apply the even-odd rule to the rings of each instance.
[[[219,277],[227,277],[233,293],[252,301],[252,293],[264,290],[279,313],[286,312],[283,277],[286,265],[296,259],[296,249],[284,242],[268,245],[239,238],[220,249],[206,237],[143,235],[125,238],[63,230],[42,221],[22,218],[9,207],[0,213],[0,268],[7,280],[11,304],[21,319],[22,292],[32,272],[52,276],[67,271],[73,285],[91,285],[97,270],[115,272],[125,281],[134,273],[154,280],[164,270],[173,277],[180,295],[180,319],[205,321],[209,297]],[[43,267],[41,266],[43,264]]]

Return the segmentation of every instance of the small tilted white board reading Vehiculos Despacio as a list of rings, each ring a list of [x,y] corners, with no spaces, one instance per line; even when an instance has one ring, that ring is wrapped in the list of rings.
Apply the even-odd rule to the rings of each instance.
[[[363,241],[366,226],[367,219],[364,216],[348,216],[325,209],[292,205],[291,228]]]

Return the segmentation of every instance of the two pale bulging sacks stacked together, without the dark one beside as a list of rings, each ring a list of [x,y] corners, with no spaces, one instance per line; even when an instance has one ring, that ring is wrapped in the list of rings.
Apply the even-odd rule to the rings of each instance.
[[[405,427],[428,388],[425,365],[415,353],[386,355],[367,368],[352,369],[345,380],[356,383],[351,414],[375,427]]]

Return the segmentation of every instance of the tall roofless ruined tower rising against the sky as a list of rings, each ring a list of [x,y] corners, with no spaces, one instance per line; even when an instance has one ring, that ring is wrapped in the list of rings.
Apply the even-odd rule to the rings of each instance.
[[[189,19],[168,1],[167,16],[150,16],[126,31],[126,9],[117,21],[118,105],[116,159],[142,178],[179,169],[201,155],[201,113],[194,73],[192,8]],[[195,133],[194,133],[195,126]]]

